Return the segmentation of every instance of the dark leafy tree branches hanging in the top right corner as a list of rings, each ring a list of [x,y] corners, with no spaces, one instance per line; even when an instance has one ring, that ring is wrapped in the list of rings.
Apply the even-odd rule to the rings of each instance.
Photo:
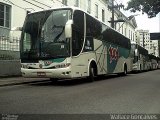
[[[131,12],[142,11],[149,18],[156,17],[160,12],[160,0],[130,0],[126,10]]]

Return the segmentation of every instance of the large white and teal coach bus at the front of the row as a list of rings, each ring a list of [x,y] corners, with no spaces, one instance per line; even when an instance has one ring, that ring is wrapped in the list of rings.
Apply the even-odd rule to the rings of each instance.
[[[56,8],[26,16],[20,43],[24,77],[51,80],[131,71],[130,39],[83,10]]]

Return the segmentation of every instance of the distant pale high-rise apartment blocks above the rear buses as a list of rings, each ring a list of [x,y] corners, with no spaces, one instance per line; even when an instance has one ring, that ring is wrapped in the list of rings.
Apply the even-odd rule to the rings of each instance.
[[[150,40],[149,30],[137,30],[136,42],[147,49],[149,54],[159,56],[158,40]]]

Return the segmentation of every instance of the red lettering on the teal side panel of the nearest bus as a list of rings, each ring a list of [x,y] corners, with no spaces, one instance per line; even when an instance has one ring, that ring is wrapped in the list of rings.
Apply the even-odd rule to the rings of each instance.
[[[117,61],[119,58],[119,51],[118,51],[118,47],[114,48],[110,45],[109,47],[109,56],[110,56],[110,63],[112,63],[113,61]]]

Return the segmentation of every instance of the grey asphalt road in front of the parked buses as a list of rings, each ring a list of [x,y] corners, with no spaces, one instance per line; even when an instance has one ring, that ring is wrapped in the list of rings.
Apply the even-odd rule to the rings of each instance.
[[[81,79],[0,87],[0,113],[160,113],[160,70],[92,83]]]

